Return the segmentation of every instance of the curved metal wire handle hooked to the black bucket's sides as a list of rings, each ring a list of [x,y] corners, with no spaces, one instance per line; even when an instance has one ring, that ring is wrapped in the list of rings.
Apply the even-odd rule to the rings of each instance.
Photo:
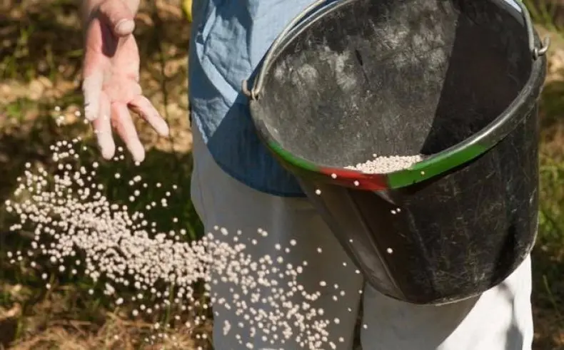
[[[334,1],[334,0],[333,0]],[[503,0],[507,1],[507,0]],[[243,80],[241,89],[243,93],[251,100],[256,101],[258,100],[258,95],[261,93],[263,88],[264,78],[266,76],[266,71],[270,68],[271,63],[273,61],[273,56],[277,53],[277,48],[280,46],[281,42],[286,38],[288,33],[298,24],[300,21],[305,19],[306,17],[310,16],[316,9],[324,4],[331,3],[331,0],[316,0],[313,4],[303,9],[298,16],[294,17],[294,19],[288,23],[286,28],[283,29],[281,34],[276,37],[276,40],[272,43],[271,47],[268,49],[266,56],[264,57],[264,61],[262,64],[261,69],[258,71],[258,75],[256,76],[256,81],[253,84],[253,87],[249,90],[248,88],[248,81]],[[544,56],[545,53],[548,51],[548,47],[550,46],[550,36],[545,36],[542,46],[536,46],[535,44],[535,33],[533,29],[533,21],[530,19],[530,14],[523,3],[523,0],[514,0],[514,2],[519,6],[521,10],[521,14],[523,14],[523,19],[525,20],[525,29],[527,30],[527,36],[529,41],[529,49],[531,54],[533,55],[533,60],[537,60],[540,56]]]

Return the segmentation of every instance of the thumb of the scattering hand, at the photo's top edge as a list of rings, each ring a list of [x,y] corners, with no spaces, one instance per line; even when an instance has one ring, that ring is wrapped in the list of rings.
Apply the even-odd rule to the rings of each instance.
[[[106,0],[98,9],[101,21],[108,25],[116,36],[128,36],[135,29],[135,13],[126,1]]]

